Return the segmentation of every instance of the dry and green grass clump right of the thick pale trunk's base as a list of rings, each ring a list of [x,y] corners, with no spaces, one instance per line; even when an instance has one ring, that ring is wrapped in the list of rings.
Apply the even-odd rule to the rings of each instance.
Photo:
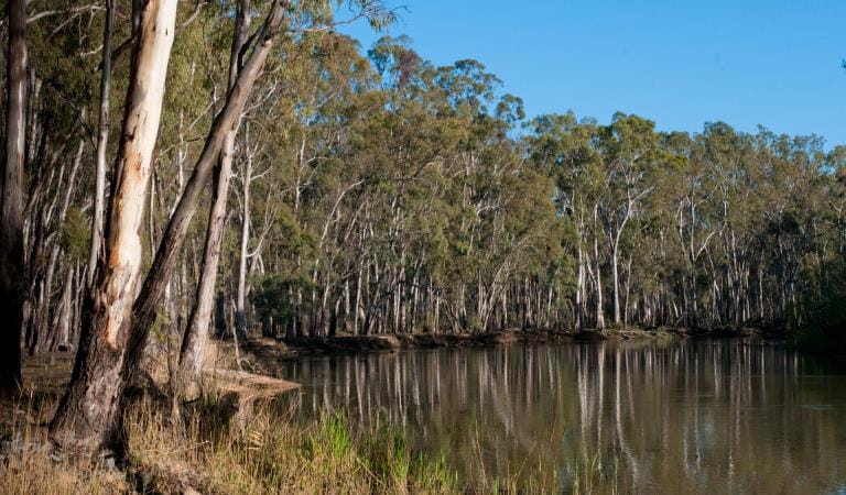
[[[270,407],[260,408],[241,428],[228,425],[227,408],[225,400],[206,399],[181,427],[144,405],[131,411],[131,463],[153,475],[145,488],[166,491],[174,480],[204,493],[231,494],[456,487],[443,460],[412,454],[390,430],[357,431],[338,414],[302,427]]]

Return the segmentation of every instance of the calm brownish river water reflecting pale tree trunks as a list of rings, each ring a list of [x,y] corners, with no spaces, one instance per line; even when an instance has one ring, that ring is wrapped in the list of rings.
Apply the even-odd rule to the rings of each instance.
[[[846,493],[846,370],[744,340],[510,344],[308,359],[304,416],[345,408],[460,479],[605,463],[625,492]]]

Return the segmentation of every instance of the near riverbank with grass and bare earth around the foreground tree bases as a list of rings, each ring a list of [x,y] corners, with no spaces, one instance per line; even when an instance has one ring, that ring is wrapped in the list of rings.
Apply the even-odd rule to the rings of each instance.
[[[230,350],[212,345],[215,362]],[[444,458],[415,452],[392,427],[364,427],[344,413],[308,421],[272,398],[297,384],[213,369],[200,396],[172,407],[166,383],[144,373],[130,386],[127,452],[73,459],[47,425],[67,385],[70,353],[24,361],[26,389],[0,402],[0,486],[9,494],[440,493],[458,491]]]

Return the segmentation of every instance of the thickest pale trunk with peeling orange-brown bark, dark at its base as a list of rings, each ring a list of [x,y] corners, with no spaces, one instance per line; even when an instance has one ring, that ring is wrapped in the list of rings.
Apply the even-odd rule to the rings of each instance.
[[[106,256],[83,314],[83,336],[70,385],[51,425],[53,439],[84,455],[118,444],[124,364],[135,345],[132,302],[140,282],[144,198],[162,113],[176,0],[150,0],[132,53],[106,228]]]

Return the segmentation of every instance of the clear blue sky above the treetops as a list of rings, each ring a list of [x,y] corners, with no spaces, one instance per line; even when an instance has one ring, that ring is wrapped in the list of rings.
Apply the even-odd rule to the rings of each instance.
[[[846,143],[846,0],[387,1],[406,8],[388,34],[436,65],[478,59],[529,116],[619,110],[660,130],[722,120]],[[381,35],[341,31],[364,50]]]

